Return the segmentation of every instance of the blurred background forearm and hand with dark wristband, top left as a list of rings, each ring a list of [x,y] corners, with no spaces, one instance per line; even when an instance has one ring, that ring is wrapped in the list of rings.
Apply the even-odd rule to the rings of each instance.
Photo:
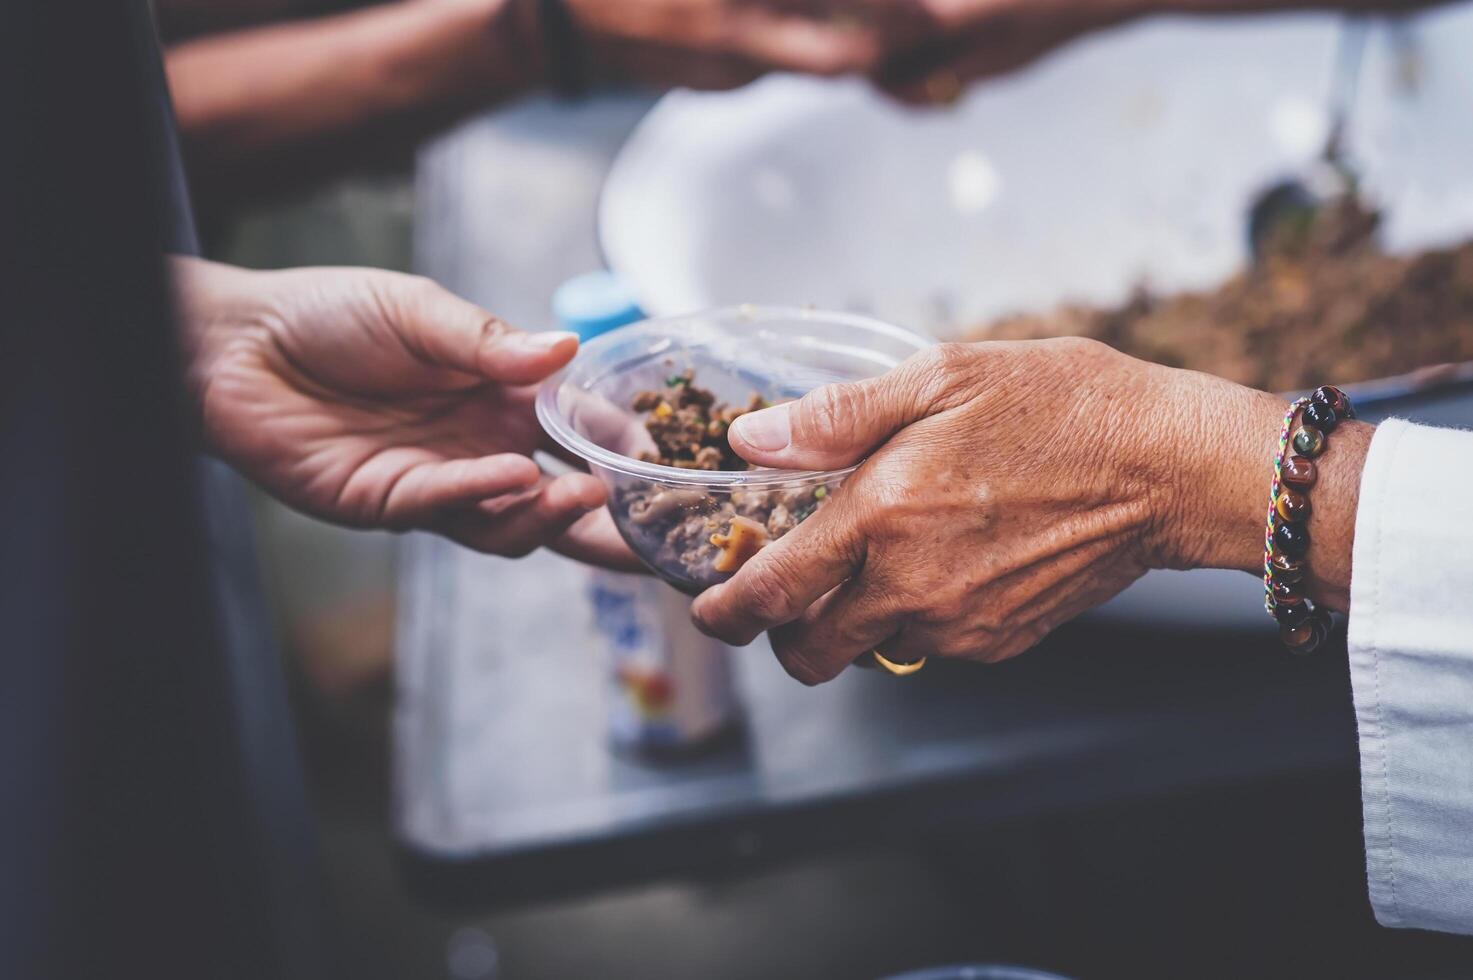
[[[206,205],[402,162],[455,118],[555,81],[723,88],[772,69],[872,72],[928,24],[918,0],[158,6]]]

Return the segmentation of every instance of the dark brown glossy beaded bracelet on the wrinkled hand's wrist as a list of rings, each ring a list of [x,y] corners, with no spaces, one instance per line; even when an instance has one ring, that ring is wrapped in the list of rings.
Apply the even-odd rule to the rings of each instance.
[[[1264,529],[1264,609],[1279,622],[1279,638],[1293,653],[1314,653],[1330,635],[1330,612],[1315,609],[1302,591],[1308,572],[1309,489],[1318,476],[1314,460],[1324,452],[1329,435],[1355,417],[1349,396],[1333,385],[1314,389],[1284,413],[1274,455]],[[1299,427],[1295,429],[1295,419]],[[1290,439],[1289,433],[1293,432]],[[1293,455],[1289,448],[1293,447]]]

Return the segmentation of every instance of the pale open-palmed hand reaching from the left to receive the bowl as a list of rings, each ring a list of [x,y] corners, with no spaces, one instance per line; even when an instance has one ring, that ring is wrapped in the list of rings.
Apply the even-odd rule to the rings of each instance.
[[[287,504],[479,551],[632,567],[586,473],[544,475],[529,385],[573,357],[435,283],[365,268],[174,259],[206,447]]]

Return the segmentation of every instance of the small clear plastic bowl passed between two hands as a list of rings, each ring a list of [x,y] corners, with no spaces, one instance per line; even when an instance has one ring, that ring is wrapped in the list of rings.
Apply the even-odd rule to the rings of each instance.
[[[685,470],[639,460],[654,451],[642,391],[694,371],[717,401],[800,398],[832,382],[882,374],[931,345],[868,317],[781,307],[729,307],[647,320],[583,345],[538,395],[538,419],[608,485],[608,507],[629,547],[660,578],[697,594],[731,578],[711,541],[741,516],[773,541],[825,505],[853,467],[828,472]]]

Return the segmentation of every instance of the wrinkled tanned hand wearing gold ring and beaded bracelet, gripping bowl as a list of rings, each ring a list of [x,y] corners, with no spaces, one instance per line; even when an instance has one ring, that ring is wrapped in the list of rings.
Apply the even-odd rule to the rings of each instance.
[[[946,345],[734,423],[753,463],[868,460],[834,500],[695,603],[729,643],[764,629],[816,684],[881,648],[1002,660],[1150,567],[1261,561],[1284,402],[1091,340]],[[1342,435],[1349,433],[1349,435]],[[1357,444],[1336,432],[1311,569],[1343,607]],[[1339,467],[1339,469],[1336,469]],[[1349,504],[1346,504],[1349,501]]]

